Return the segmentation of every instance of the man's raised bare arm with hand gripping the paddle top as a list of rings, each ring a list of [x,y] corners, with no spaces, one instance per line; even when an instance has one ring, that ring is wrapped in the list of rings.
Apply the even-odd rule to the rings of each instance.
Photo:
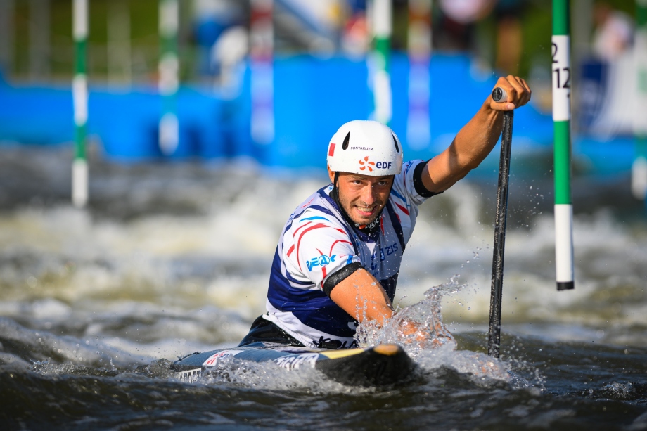
[[[506,91],[508,102],[497,103],[492,100],[492,95],[488,96],[476,115],[456,134],[451,145],[427,162],[422,181],[428,191],[445,191],[480,165],[499,140],[504,111],[519,108],[530,101],[530,87],[520,77],[500,77],[496,86]]]

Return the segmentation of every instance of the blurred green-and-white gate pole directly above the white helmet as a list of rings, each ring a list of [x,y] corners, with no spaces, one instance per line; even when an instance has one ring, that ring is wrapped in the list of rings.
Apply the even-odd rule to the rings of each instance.
[[[392,115],[391,77],[389,75],[391,51],[391,0],[373,0],[373,100],[375,120],[389,124]]]

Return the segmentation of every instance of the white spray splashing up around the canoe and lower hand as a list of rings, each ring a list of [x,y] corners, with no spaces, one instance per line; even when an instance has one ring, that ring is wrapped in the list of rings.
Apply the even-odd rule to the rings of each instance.
[[[478,384],[491,380],[512,382],[508,364],[478,352],[456,351],[456,340],[442,321],[442,297],[452,295],[462,288],[458,276],[443,285],[425,292],[423,300],[399,309],[385,326],[377,327],[371,321],[360,323],[357,328],[360,347],[384,343],[404,345],[418,365],[418,374],[433,373],[440,368],[466,375]],[[405,335],[403,323],[415,323],[425,340],[418,335]],[[520,379],[517,379],[520,381]],[[255,363],[237,360],[235,357],[219,361],[216,369],[198,379],[203,384],[232,384],[265,390],[303,390],[314,393],[349,392],[350,388],[324,377],[309,367],[286,370],[272,363]],[[374,390],[374,389],[373,389]],[[372,390],[369,390],[372,391]],[[352,390],[357,394],[357,388]]]

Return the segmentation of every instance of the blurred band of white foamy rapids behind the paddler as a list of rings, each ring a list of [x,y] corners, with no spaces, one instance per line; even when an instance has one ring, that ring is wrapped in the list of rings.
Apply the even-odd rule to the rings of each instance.
[[[25,330],[75,337],[72,347],[103,343],[108,356],[129,355],[127,361],[136,364],[235,345],[264,311],[283,224],[325,180],[231,175],[207,187],[202,179],[188,179],[188,195],[179,188],[169,188],[167,195],[202,202],[199,211],[188,214],[146,210],[153,205],[146,202],[160,192],[158,179],[146,181],[129,195],[132,205],[143,205],[137,217],[120,219],[66,205],[1,213],[0,316]],[[455,328],[487,323],[489,205],[480,188],[461,182],[421,207],[400,271],[396,303],[402,313],[417,313],[433,327],[423,319],[432,316],[426,307],[442,304],[444,320]],[[576,215],[577,288],[558,293],[553,218],[515,205],[506,237],[504,333],[644,345],[644,226],[625,226],[604,210]],[[523,224],[515,219],[519,212]],[[451,284],[454,274],[460,274],[461,288]],[[428,290],[430,285],[439,288]],[[432,293],[440,295],[437,302]],[[371,337],[364,343],[397,340],[388,330]],[[53,351],[58,354],[58,347]],[[94,357],[91,352],[61,355],[62,361]]]

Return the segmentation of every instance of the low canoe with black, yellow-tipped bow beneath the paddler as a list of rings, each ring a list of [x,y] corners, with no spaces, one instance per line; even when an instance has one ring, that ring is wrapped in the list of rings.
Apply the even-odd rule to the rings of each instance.
[[[361,349],[309,349],[255,342],[245,347],[193,353],[174,362],[180,380],[193,382],[203,373],[217,369],[219,361],[274,362],[293,370],[316,368],[331,380],[345,385],[381,386],[407,380],[416,368],[414,361],[398,345],[378,345]]]

